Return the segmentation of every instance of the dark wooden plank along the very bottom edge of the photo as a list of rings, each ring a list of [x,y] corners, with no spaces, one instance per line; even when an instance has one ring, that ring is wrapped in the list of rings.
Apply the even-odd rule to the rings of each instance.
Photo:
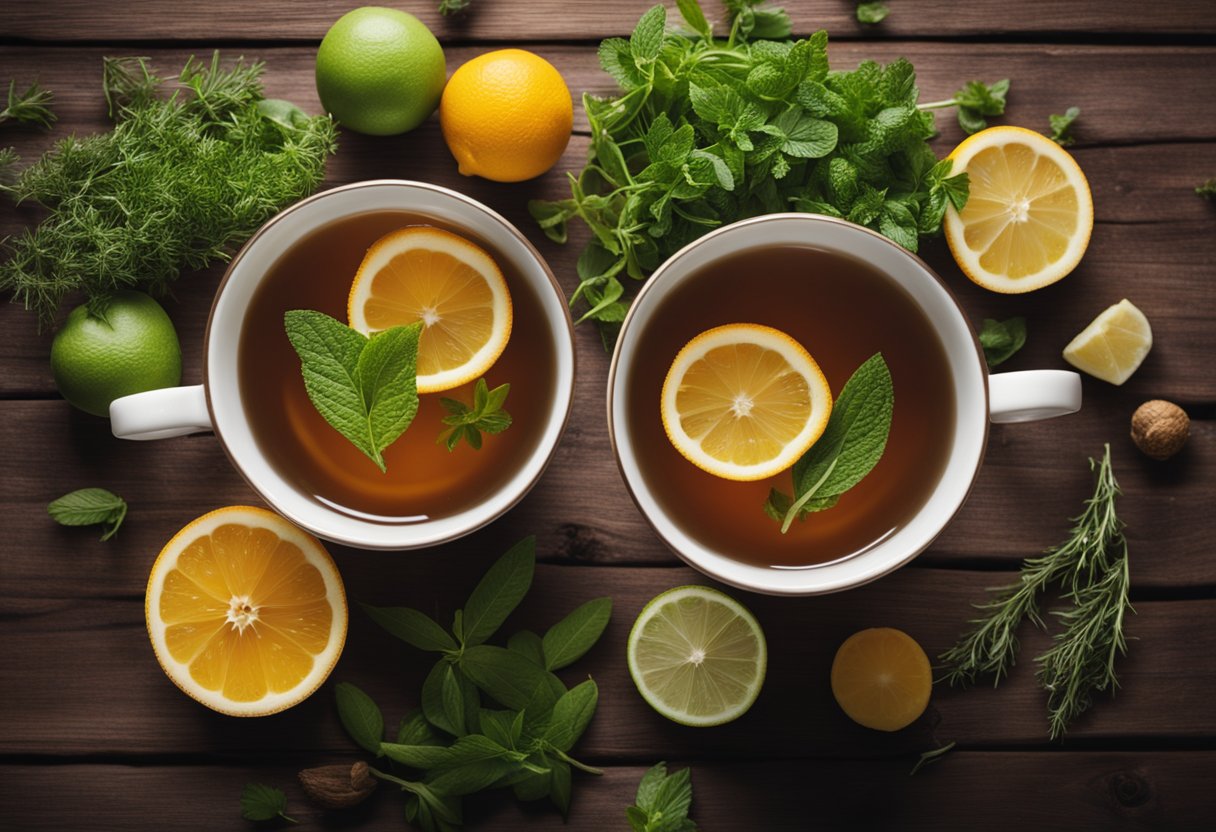
[[[7,808],[12,828],[24,832],[77,825],[141,832],[148,823],[150,796],[161,796],[161,832],[241,828],[241,788],[264,782],[286,792],[287,814],[300,821],[291,828],[300,832],[405,828],[402,800],[388,786],[356,809],[325,813],[313,806],[295,782],[295,763],[4,765],[0,805]],[[313,763],[304,755],[298,760],[300,766]],[[670,761],[672,770],[685,765],[688,761]],[[704,832],[760,828],[741,823],[762,823],[766,832],[803,832],[807,823],[816,830],[936,832],[972,828],[978,817],[993,832],[1054,828],[1064,817],[1075,828],[1195,830],[1211,819],[1216,752],[952,752],[914,778],[907,775],[908,759],[691,765],[692,817]],[[500,792],[466,800],[467,826],[497,832],[625,828],[625,806],[634,802],[644,770],[609,766],[603,777],[576,775],[564,825],[547,804],[520,804]]]

